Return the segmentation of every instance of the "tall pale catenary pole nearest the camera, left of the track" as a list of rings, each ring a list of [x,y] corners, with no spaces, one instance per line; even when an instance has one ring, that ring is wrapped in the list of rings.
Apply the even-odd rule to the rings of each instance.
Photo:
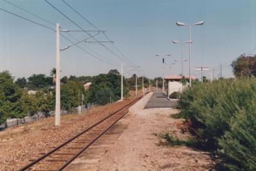
[[[60,24],[56,24],[56,99],[55,126],[60,126]]]

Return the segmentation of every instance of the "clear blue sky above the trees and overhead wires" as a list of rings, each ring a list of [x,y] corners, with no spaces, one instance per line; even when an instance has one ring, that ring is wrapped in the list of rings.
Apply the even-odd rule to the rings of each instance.
[[[188,27],[176,26],[177,21],[186,24],[193,24],[200,20],[205,22],[203,26],[195,26],[192,30],[193,68],[198,66],[216,68],[220,64],[227,66],[240,54],[256,46],[256,1],[254,0],[66,1],[95,26],[106,30],[109,38],[115,41],[116,47],[132,63],[141,66],[145,70],[145,75],[150,78],[163,75],[161,59],[155,56],[156,53],[171,53],[172,56],[168,57],[166,62],[172,65],[172,74],[180,73],[180,63],[172,64],[174,59],[180,59],[180,46],[171,42],[172,40],[187,41],[189,30]],[[62,29],[79,29],[43,0],[12,0],[11,2],[51,22],[59,22]],[[49,2],[84,29],[93,29],[62,1],[49,0]],[[0,1],[0,7],[54,28],[51,24],[36,19],[4,1]],[[4,11],[0,11],[0,23],[0,71],[9,70],[16,78],[29,77],[32,73],[49,75],[56,60],[55,33]],[[86,38],[84,33],[70,34],[79,40]],[[106,41],[106,38],[97,36],[97,40]],[[61,38],[61,47],[69,44]],[[84,47],[84,45],[81,46]],[[100,45],[87,44],[86,46],[98,52],[98,54],[92,52],[95,56],[100,54],[107,61],[121,63],[118,57]],[[118,53],[111,45],[106,44],[106,46]],[[87,50],[86,47],[84,49]],[[189,47],[185,45],[185,59],[188,59],[188,52]],[[255,53],[256,50],[253,52]],[[61,52],[61,77],[97,75],[106,73],[111,68],[113,66],[98,61],[75,46]],[[188,74],[188,62],[184,63],[184,72]],[[215,76],[219,72],[220,70],[216,70]],[[170,71],[166,70],[167,73]],[[125,75],[131,74],[132,72]],[[195,75],[200,76],[199,73]],[[223,68],[223,76],[232,77],[230,67]]]

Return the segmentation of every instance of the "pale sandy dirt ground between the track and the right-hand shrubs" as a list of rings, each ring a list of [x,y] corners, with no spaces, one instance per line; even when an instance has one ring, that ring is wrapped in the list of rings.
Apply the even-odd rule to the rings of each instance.
[[[209,153],[184,146],[160,145],[157,133],[189,137],[180,130],[183,120],[170,115],[173,108],[143,110],[140,100],[106,135],[93,144],[67,170],[214,170]]]

